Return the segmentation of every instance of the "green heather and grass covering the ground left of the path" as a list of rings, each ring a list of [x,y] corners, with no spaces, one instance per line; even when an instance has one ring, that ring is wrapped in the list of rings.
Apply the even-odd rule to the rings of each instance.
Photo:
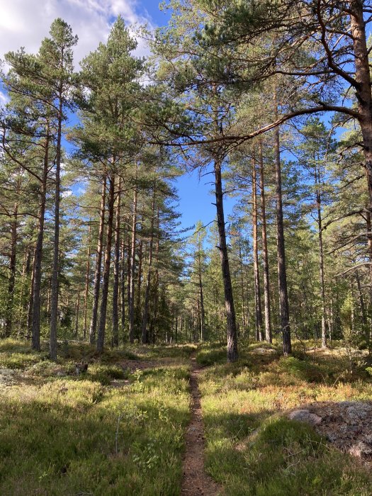
[[[72,349],[57,366],[40,361],[39,368],[25,359],[28,380],[0,388],[0,494],[177,495],[188,368],[129,374],[115,353],[84,375],[55,376],[53,367],[68,371],[82,354],[86,348]],[[108,386],[123,377],[128,385]]]

